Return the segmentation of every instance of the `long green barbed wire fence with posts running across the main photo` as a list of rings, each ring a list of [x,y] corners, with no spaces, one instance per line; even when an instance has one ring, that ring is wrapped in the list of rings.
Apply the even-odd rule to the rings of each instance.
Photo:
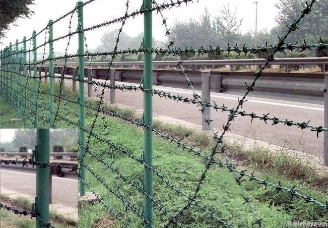
[[[263,224],[269,222],[269,218],[261,218],[258,210],[253,204],[252,198],[249,196],[247,189],[244,186],[244,181],[248,179],[259,185],[263,185],[266,188],[277,190],[277,192],[285,192],[290,194],[291,199],[304,200],[309,204],[314,204],[323,211],[328,211],[328,203],[320,202],[311,195],[306,195],[299,192],[295,186],[288,188],[283,186],[283,183],[272,183],[267,179],[262,179],[255,173],[251,173],[245,170],[238,170],[237,166],[233,163],[229,156],[229,151],[223,144],[223,137],[230,129],[231,122],[238,115],[248,116],[251,121],[254,118],[263,120],[265,123],[272,121],[271,124],[284,124],[285,126],[297,126],[300,129],[309,128],[311,131],[315,131],[317,136],[321,132],[327,131],[328,128],[323,126],[315,126],[309,124],[309,121],[294,121],[281,119],[276,116],[269,116],[269,114],[255,114],[246,113],[241,111],[243,104],[247,101],[247,96],[253,92],[256,87],[257,81],[263,76],[262,72],[266,66],[274,61],[276,53],[285,54],[286,51],[305,51],[305,50],[327,50],[328,44],[310,44],[305,41],[302,45],[286,44],[285,40],[290,33],[298,29],[298,24],[301,20],[306,19],[306,16],[311,12],[316,0],[312,0],[310,3],[306,2],[305,8],[295,21],[287,26],[286,33],[279,37],[278,43],[275,45],[268,45],[261,48],[248,48],[245,45],[242,47],[229,46],[227,48],[215,47],[215,45],[209,48],[180,48],[175,47],[175,41],[170,36],[170,29],[167,26],[167,19],[165,19],[165,11],[173,7],[187,7],[189,4],[194,3],[193,0],[170,0],[163,3],[157,3],[155,0],[144,0],[143,5],[139,10],[129,12],[129,0],[125,2],[126,9],[124,15],[114,18],[109,21],[104,21],[99,24],[92,25],[90,27],[84,27],[83,24],[83,7],[88,4],[96,2],[96,0],[88,0],[86,2],[79,1],[76,7],[59,19],[52,21],[45,28],[38,33],[33,32],[31,38],[24,38],[22,42],[15,43],[15,51],[12,50],[13,46],[10,44],[1,51],[1,71],[0,71],[0,83],[1,83],[1,97],[4,98],[14,108],[16,114],[24,122],[24,126],[39,127],[74,127],[79,130],[79,167],[71,167],[72,171],[77,171],[79,179],[80,195],[84,196],[86,190],[92,192],[98,201],[107,209],[110,216],[115,218],[117,223],[124,227],[133,227],[134,224],[142,224],[145,228],[151,227],[188,227],[181,218],[188,214],[192,208],[200,213],[205,218],[209,218],[211,222],[217,227],[234,227],[229,224],[228,220],[221,218],[221,213],[218,210],[213,209],[210,205],[205,205],[200,197],[200,190],[204,185],[209,170],[214,166],[222,168],[232,173],[232,178],[236,180],[236,184],[239,185],[241,191],[241,197],[244,203],[248,206],[248,211],[253,216],[253,225],[257,227],[263,227]],[[156,12],[160,14],[165,29],[165,34],[168,37],[167,47],[152,47],[152,13]],[[72,28],[72,20],[74,15],[77,14],[77,28]],[[138,49],[125,49],[119,50],[120,35],[124,29],[126,21],[134,19],[136,16],[144,16],[144,38]],[[52,25],[61,21],[64,18],[69,18],[68,33],[59,37],[53,37]],[[90,52],[88,50],[87,38],[85,33],[99,29],[105,26],[120,24],[118,34],[116,36],[115,46],[113,51],[109,52]],[[37,46],[36,39],[42,33],[45,33],[45,41],[41,45]],[[76,54],[68,54],[68,48],[71,45],[71,38],[74,35],[78,35],[78,49]],[[48,40],[47,40],[48,38]],[[67,39],[67,45],[65,49],[65,55],[54,55],[54,43]],[[29,49],[27,50],[27,42],[29,42]],[[21,51],[19,51],[19,45],[21,45]],[[33,45],[33,48],[31,48]],[[45,57],[46,46],[49,46],[49,57]],[[213,48],[215,47],[215,48]],[[43,48],[42,60],[37,60],[37,51]],[[86,51],[84,51],[84,49]],[[224,105],[218,106],[213,102],[209,103],[203,100],[194,88],[193,82],[188,76],[188,71],[184,67],[181,56],[184,55],[220,55],[223,52],[237,53],[239,55],[268,53],[266,62],[255,73],[255,78],[252,84],[246,84],[246,92],[244,96],[238,100],[238,104],[235,108],[228,108]],[[27,61],[27,54],[29,55]],[[182,77],[186,80],[187,88],[190,88],[193,93],[193,98],[184,97],[181,95],[172,95],[158,89],[154,89],[152,86],[152,56],[153,55],[171,55],[177,57],[177,68],[181,70]],[[18,56],[19,55],[19,56]],[[31,55],[33,55],[33,62],[31,63]],[[144,55],[144,73],[141,78],[140,85],[125,85],[115,84],[115,69],[113,69],[113,62],[120,55]],[[106,71],[105,80],[96,80],[93,75],[92,69],[92,57],[109,57],[108,67]],[[79,66],[77,69],[66,67],[68,59],[73,58],[78,60]],[[64,60],[64,68],[61,72],[58,71],[58,67],[55,67],[55,61]],[[84,61],[89,61],[88,68],[84,67]],[[49,62],[49,67],[44,67],[44,63]],[[39,74],[38,74],[39,69]],[[86,69],[86,70],[85,70]],[[29,73],[27,73],[29,71]],[[45,73],[42,74],[42,71]],[[78,73],[76,73],[78,71]],[[33,72],[33,75],[32,75]],[[114,75],[114,77],[113,77]],[[15,80],[13,79],[15,76]],[[85,79],[85,76],[89,77]],[[114,78],[114,81],[113,81]],[[33,79],[33,81],[29,81]],[[41,82],[41,80],[48,80]],[[58,80],[58,84],[55,85],[55,79]],[[66,88],[66,81],[72,85],[73,90],[76,89],[78,83],[78,94],[71,93]],[[92,88],[95,93],[95,99],[92,101],[85,100],[84,86]],[[124,114],[119,114],[111,109],[107,105],[105,99],[108,90],[120,90],[123,92],[142,92],[144,94],[144,114],[141,120],[134,117],[129,117]],[[76,91],[74,91],[76,92]],[[88,91],[89,92],[89,91]],[[200,114],[205,116],[205,121],[208,124],[212,132],[212,138],[214,146],[210,151],[210,154],[206,154],[202,148],[197,148],[193,145],[189,145],[176,138],[173,135],[166,134],[152,125],[152,97],[158,96],[160,98],[170,99],[175,102],[182,102],[190,105],[195,105],[200,108]],[[57,104],[55,104],[57,103]],[[223,131],[218,132],[213,127],[213,120],[207,114],[207,109],[213,109],[214,111],[221,111],[228,113],[227,122],[223,125]],[[22,111],[23,110],[23,111]],[[90,117],[90,121],[85,122],[85,116]],[[111,126],[106,122],[107,117],[114,117],[125,122],[131,123],[134,126],[144,129],[144,147],[142,152],[139,153],[137,149],[131,149],[131,147],[124,146],[110,139],[109,128]],[[41,120],[41,121],[39,121]],[[170,179],[167,174],[163,173],[160,167],[153,165],[152,158],[152,134],[167,140],[173,144],[176,144],[178,148],[182,148],[188,155],[196,155],[199,158],[199,163],[204,165],[204,169],[199,173],[198,178],[193,191],[183,189],[179,183]],[[106,148],[104,154],[98,153],[97,145],[102,148]],[[131,178],[120,170],[116,165],[117,153],[125,156],[126,160],[131,162],[133,166],[140,166],[140,169],[144,169],[144,175],[141,177]],[[91,162],[97,162],[103,166],[104,169],[111,171],[114,174],[114,181],[109,183],[106,177],[93,167]],[[26,166],[39,165],[41,167],[49,167],[49,164],[36,164],[35,161],[25,159],[23,161],[10,161],[1,160],[0,163],[5,165],[9,164],[21,164]],[[220,170],[219,170],[220,171]],[[154,185],[158,187],[168,188],[170,192],[184,199],[185,204],[177,208],[168,208],[165,198],[160,198],[153,192],[153,178],[156,180]],[[92,181],[91,181],[92,180]],[[95,184],[97,182],[101,187]],[[135,192],[125,192],[123,185],[127,185]],[[109,193],[113,199],[108,200],[104,196],[104,192]],[[143,197],[143,202],[132,202],[129,194],[139,194]],[[295,199],[298,198],[298,199]],[[117,206],[120,205],[120,206]],[[19,211],[10,206],[2,205],[1,208],[8,211],[12,211],[17,215],[34,215],[33,213],[26,211]],[[155,220],[154,220],[155,215]],[[49,223],[44,224],[50,227]]]

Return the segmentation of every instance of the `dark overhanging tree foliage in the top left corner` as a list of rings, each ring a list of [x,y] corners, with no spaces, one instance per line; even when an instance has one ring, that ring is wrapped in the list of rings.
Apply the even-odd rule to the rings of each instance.
[[[29,17],[34,12],[29,6],[34,0],[0,0],[0,38],[9,25],[20,17]]]

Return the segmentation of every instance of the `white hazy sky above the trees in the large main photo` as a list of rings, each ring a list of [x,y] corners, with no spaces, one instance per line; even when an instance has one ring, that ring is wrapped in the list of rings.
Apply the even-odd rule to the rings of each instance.
[[[189,3],[188,6],[183,5],[181,8],[172,8],[171,10],[163,11],[164,17],[167,18],[168,26],[172,25],[175,20],[185,21],[190,17],[199,18],[203,13],[204,7],[207,7],[212,16],[219,15],[220,9],[227,3],[230,8],[237,8],[239,18],[243,18],[242,32],[255,30],[255,0],[194,0],[194,3]],[[274,3],[277,0],[258,0],[258,30],[267,28],[268,30],[275,26],[274,16],[276,8]],[[163,0],[157,0],[158,3]],[[84,8],[84,27],[89,27],[103,21],[111,20],[114,17],[122,16],[125,12],[126,0],[95,0]],[[15,42],[16,39],[21,41],[23,36],[31,37],[32,30],[40,31],[47,25],[49,19],[57,19],[76,4],[76,0],[35,0],[32,10],[35,12],[31,18],[22,18],[16,21],[16,26],[11,26],[7,32],[7,38],[1,39],[0,49],[9,45],[9,42]],[[140,8],[142,0],[130,0],[129,11],[134,11]],[[165,30],[162,26],[160,15],[153,14],[153,36],[157,40],[165,39]],[[76,14],[72,18],[72,31],[76,30]],[[54,37],[59,37],[68,33],[69,16],[60,23],[54,25]],[[135,36],[143,30],[143,17],[138,16],[134,19],[128,19],[124,32],[131,36]],[[111,31],[119,27],[119,23],[110,26],[105,26],[86,33],[87,44],[90,49],[96,48],[100,44],[102,34],[105,31]],[[37,43],[41,44],[45,40],[45,35],[38,36]],[[55,43],[55,52],[65,52],[67,39]],[[29,46],[29,45],[28,45]],[[47,51],[48,47],[46,47]],[[77,37],[72,38],[68,48],[69,53],[75,53],[77,50]],[[39,50],[38,53],[43,52]]]

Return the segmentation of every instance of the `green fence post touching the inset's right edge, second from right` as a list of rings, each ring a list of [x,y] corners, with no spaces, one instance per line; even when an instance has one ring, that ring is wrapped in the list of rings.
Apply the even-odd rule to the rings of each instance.
[[[78,54],[83,55],[84,54],[84,34],[83,34],[83,1],[79,0],[77,2],[77,17],[78,17]],[[85,102],[85,95],[84,95],[84,57],[80,56],[78,57],[78,94],[79,94],[79,161],[84,163],[85,162],[85,137],[84,137],[84,128],[85,128],[85,122],[84,122],[84,115],[85,115],[85,108],[84,108],[84,102]],[[80,165],[80,178],[85,181],[85,167],[83,165]],[[80,196],[85,195],[85,185],[82,181],[79,181],[80,186]]]

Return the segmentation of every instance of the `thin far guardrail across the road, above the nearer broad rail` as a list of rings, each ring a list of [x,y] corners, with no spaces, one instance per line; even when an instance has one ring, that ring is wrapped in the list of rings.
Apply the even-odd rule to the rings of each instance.
[[[215,68],[216,66],[223,65],[261,65],[265,63],[263,58],[242,58],[242,59],[215,59],[215,60],[185,60],[185,66],[192,66],[197,70],[199,66],[207,66],[208,68]],[[57,62],[58,66],[64,65],[64,62]],[[76,65],[77,62],[67,62],[67,65]],[[89,62],[84,62],[89,65]],[[153,66],[156,68],[165,66],[166,68],[174,68],[177,61],[153,61]],[[305,57],[305,58],[275,58],[269,65],[321,65],[322,71],[325,71],[325,66],[328,65],[328,57]],[[44,65],[47,65],[45,63]],[[92,62],[91,66],[106,66],[108,62]],[[142,67],[143,61],[120,61],[113,62],[114,67]],[[288,67],[287,67],[288,68]]]

